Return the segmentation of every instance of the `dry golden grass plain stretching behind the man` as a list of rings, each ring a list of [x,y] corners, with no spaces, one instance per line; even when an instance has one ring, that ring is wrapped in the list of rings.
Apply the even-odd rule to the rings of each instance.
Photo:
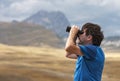
[[[75,60],[63,49],[0,44],[0,81],[73,81]],[[102,81],[120,81],[120,55],[106,52]]]

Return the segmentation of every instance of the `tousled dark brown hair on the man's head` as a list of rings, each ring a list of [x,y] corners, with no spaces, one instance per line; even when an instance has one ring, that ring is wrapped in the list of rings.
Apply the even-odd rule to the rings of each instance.
[[[101,27],[97,24],[86,23],[82,26],[83,29],[86,29],[86,35],[92,35],[92,43],[93,45],[100,46],[102,40],[104,39],[103,32],[101,31]]]

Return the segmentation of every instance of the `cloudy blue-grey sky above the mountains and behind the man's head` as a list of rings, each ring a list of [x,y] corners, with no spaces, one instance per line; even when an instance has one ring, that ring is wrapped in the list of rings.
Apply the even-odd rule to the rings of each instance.
[[[62,11],[72,24],[93,21],[120,35],[120,0],[0,0],[0,21],[22,21],[40,10]]]

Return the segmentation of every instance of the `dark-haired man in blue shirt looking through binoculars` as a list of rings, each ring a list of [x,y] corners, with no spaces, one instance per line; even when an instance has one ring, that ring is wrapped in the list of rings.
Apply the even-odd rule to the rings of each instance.
[[[100,47],[104,38],[101,27],[86,23],[81,30],[83,34],[78,34],[78,31],[79,27],[71,27],[65,46],[66,57],[77,59],[74,81],[101,81],[105,60]]]

